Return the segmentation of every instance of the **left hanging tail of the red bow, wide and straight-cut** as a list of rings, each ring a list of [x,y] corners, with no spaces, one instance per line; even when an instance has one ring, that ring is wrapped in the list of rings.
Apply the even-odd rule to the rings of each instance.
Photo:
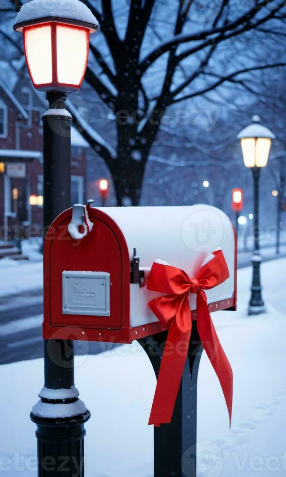
[[[189,329],[182,331],[173,319],[165,343],[149,424],[159,427],[172,419],[181,377],[188,355],[191,336],[191,316]]]

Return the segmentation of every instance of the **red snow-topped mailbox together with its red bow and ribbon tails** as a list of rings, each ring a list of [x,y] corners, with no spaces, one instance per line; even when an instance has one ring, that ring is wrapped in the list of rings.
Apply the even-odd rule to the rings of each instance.
[[[95,208],[90,202],[64,211],[47,233],[43,337],[131,343],[169,330],[173,345],[188,344],[197,320],[202,343],[217,350],[209,358],[231,417],[232,371],[210,316],[236,307],[231,221],[210,205]],[[150,423],[170,422],[186,356],[187,348],[185,356],[163,355]],[[166,400],[168,375],[174,392]]]

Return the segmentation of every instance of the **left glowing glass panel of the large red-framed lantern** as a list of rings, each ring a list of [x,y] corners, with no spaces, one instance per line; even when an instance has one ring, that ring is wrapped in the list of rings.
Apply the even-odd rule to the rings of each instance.
[[[50,25],[24,28],[24,46],[34,85],[52,83],[52,32]]]

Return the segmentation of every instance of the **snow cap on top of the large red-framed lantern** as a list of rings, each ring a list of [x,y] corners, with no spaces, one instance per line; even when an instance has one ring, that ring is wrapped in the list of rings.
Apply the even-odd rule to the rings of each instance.
[[[22,6],[15,23],[44,17],[71,18],[98,26],[97,19],[80,0],[32,0]]]

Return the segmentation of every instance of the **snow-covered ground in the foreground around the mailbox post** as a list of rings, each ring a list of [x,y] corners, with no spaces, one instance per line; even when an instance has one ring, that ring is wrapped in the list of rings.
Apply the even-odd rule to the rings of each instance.
[[[215,373],[202,356],[198,377],[197,475],[286,475],[286,259],[262,264],[267,313],[247,316],[251,269],[238,272],[238,311],[213,319],[232,364],[232,428]],[[153,429],[147,425],[155,376],[137,342],[76,358],[76,386],[91,411],[86,477],[152,477]],[[29,412],[43,382],[43,360],[0,367],[0,473],[36,476],[35,425]],[[192,454],[193,449],[188,449]],[[188,477],[188,475],[186,475]]]

